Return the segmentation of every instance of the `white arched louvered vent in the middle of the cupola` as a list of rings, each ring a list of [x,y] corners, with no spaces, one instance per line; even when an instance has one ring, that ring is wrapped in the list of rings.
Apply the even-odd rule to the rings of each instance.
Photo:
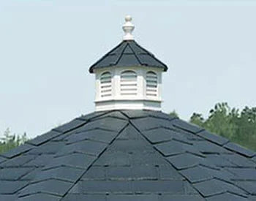
[[[127,70],[121,73],[121,95],[137,95],[136,72]]]

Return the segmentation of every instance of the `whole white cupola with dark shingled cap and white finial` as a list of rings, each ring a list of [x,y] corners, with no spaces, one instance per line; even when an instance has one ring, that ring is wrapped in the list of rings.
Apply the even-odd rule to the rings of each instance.
[[[96,76],[96,110],[161,110],[167,66],[135,42],[127,15],[123,41],[89,69]]]

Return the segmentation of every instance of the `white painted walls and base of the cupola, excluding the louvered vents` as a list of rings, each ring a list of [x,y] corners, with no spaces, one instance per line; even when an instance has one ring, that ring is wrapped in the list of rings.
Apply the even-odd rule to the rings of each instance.
[[[133,71],[137,74],[136,94],[124,95],[121,93],[121,73]],[[100,77],[105,72],[112,75],[112,94],[111,96],[101,96]],[[146,73],[154,72],[157,75],[157,95],[146,95]],[[95,107],[101,110],[161,110],[161,86],[162,69],[154,67],[107,67],[94,70],[96,77],[96,96]],[[134,81],[132,82],[134,83]]]

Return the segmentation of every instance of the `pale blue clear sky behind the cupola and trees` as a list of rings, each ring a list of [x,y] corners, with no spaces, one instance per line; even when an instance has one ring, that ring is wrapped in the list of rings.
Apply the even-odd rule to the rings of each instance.
[[[256,1],[0,0],[0,137],[29,137],[94,111],[89,67],[135,40],[169,67],[162,111],[189,120],[217,102],[255,107]]]

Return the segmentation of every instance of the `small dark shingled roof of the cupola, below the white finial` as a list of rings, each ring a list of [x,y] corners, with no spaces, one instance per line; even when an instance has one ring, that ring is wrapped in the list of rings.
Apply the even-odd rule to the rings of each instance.
[[[122,41],[89,68],[89,72],[103,67],[157,67],[167,71],[167,66],[134,40]]]

